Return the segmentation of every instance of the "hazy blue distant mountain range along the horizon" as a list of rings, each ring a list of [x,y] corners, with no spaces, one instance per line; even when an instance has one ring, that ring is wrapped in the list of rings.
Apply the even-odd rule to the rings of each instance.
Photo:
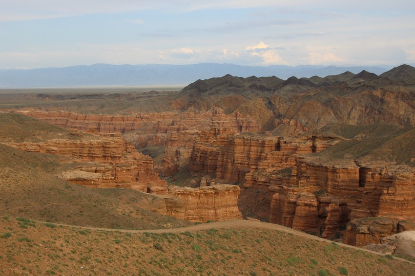
[[[414,66],[415,64],[411,64]],[[240,77],[277,76],[288,79],[341,74],[357,74],[366,70],[382,74],[394,66],[318,66],[271,65],[243,66],[235,64],[199,63],[190,65],[77,65],[63,68],[1,69],[0,88],[39,87],[100,87],[188,84],[198,79],[209,79],[226,74]]]

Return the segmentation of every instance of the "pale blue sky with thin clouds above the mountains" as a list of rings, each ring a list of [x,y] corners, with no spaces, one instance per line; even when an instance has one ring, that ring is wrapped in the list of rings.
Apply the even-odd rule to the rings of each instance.
[[[414,0],[0,0],[0,69],[415,62]]]

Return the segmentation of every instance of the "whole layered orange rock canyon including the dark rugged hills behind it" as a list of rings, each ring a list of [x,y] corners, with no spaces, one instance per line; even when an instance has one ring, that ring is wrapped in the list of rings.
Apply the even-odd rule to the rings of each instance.
[[[84,137],[4,143],[67,158],[60,177],[70,182],[153,194],[143,204],[155,212],[189,221],[249,214],[364,246],[415,220],[414,76],[404,65],[380,76],[226,75],[137,95],[159,99],[161,112],[4,109]]]

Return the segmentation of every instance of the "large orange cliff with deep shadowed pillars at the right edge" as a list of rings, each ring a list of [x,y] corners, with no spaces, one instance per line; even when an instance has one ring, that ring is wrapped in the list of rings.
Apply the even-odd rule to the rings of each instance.
[[[292,169],[290,184],[270,187],[270,191],[274,193],[270,206],[270,222],[300,230],[319,228],[320,232],[317,234],[328,238],[338,232],[340,226],[355,219],[413,219],[414,181],[415,169],[410,166],[358,166],[353,160],[347,159],[332,160],[331,165],[326,165],[312,156],[298,158]],[[310,224],[310,218],[315,218],[316,210],[311,207],[303,208],[304,203],[300,199],[304,193],[314,195],[316,199],[318,220],[313,224]],[[304,210],[307,210],[307,214],[304,214]],[[295,220],[303,223],[294,225],[292,221]],[[386,235],[384,233],[380,238],[371,236],[369,232],[360,235],[362,233],[353,232],[358,227],[352,226],[348,229],[349,238],[345,240],[349,244],[366,245]],[[360,241],[356,242],[356,239]]]

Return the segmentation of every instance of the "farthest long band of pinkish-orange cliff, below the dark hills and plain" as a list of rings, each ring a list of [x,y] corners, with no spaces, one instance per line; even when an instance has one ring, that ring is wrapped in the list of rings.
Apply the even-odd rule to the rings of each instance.
[[[100,133],[126,133],[139,129],[142,134],[157,134],[211,128],[229,128],[236,132],[256,133],[259,131],[255,120],[238,112],[225,114],[220,108],[208,111],[189,109],[182,113],[138,113],[135,115],[95,115],[38,110],[14,110],[14,112],[61,128]]]

